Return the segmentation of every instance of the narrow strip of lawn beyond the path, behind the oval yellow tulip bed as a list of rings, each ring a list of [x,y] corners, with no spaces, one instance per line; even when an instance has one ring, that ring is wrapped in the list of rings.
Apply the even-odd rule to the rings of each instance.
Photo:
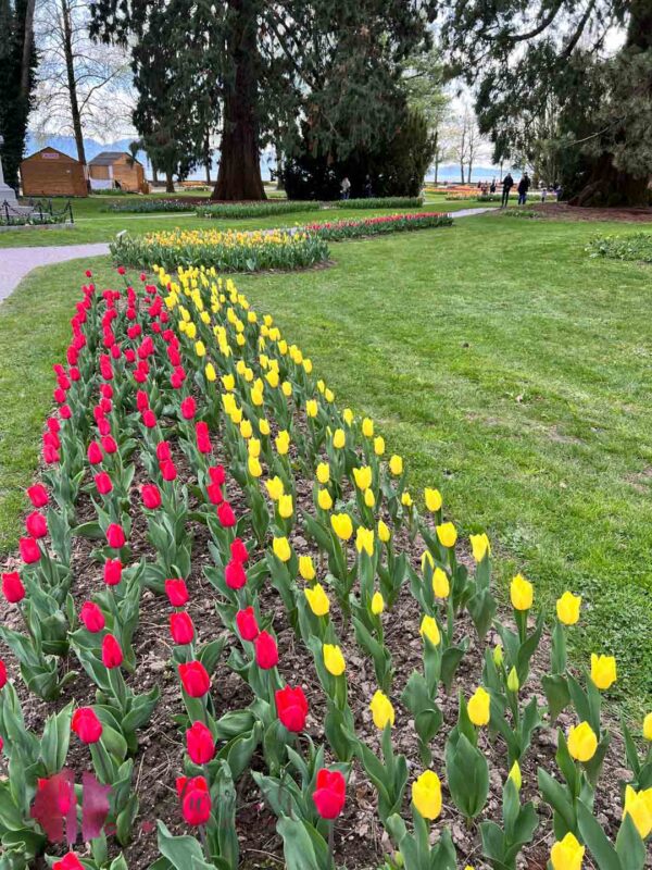
[[[172,229],[183,226],[185,229],[206,226],[222,229],[258,229],[261,227],[294,226],[315,221],[334,221],[347,217],[375,217],[380,214],[393,214],[397,211],[459,211],[460,209],[480,207],[478,202],[447,202],[442,196],[428,197],[422,209],[337,209],[333,211],[306,211],[283,215],[273,214],[267,217],[248,217],[241,221],[213,220],[196,217],[193,214],[162,212],[160,214],[111,214],[105,211],[110,202],[124,202],[127,197],[88,197],[73,201],[75,225],[63,229],[24,229],[15,233],[0,233],[0,248],[35,247],[39,245],[79,245],[93,241],[111,241],[115,234],[126,229],[133,235],[140,235],[156,229]],[[53,200],[61,208],[66,200]],[[191,211],[191,208],[190,208]]]

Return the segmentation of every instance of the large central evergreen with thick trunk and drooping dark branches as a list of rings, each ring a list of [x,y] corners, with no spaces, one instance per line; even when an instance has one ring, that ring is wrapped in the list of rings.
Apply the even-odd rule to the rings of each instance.
[[[222,127],[213,196],[262,199],[261,145],[296,134],[300,116],[311,119],[321,149],[373,139],[392,115],[396,62],[424,39],[432,3],[98,0],[91,11],[97,35],[127,40],[133,34],[136,47],[159,18],[160,38],[183,48],[167,65],[180,83],[173,88],[187,94],[178,123],[193,116],[193,102],[209,91],[213,122]]]

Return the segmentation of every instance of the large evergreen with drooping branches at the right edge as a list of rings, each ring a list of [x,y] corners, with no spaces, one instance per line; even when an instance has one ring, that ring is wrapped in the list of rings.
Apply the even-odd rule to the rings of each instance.
[[[574,166],[580,204],[648,203],[652,173],[650,0],[440,0],[451,74],[478,87],[496,158]],[[605,49],[614,25],[625,40]],[[535,149],[535,150],[537,150]]]

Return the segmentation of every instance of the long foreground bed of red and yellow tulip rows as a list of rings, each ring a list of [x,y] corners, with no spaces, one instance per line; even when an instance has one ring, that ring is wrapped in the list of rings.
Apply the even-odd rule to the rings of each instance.
[[[7,866],[65,832],[55,870],[642,870],[652,750],[611,745],[614,658],[568,668],[581,599],[550,638],[523,576],[499,610],[487,535],[418,509],[272,316],[156,274],[87,273],[54,366],[2,575]]]

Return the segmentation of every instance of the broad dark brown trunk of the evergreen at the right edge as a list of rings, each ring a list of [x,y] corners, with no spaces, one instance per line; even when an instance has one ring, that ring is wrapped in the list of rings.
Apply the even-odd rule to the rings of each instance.
[[[623,51],[645,51],[652,48],[652,7],[650,0],[631,0],[629,3],[629,26],[627,41]],[[632,83],[632,89],[637,83]],[[600,154],[593,164],[591,175],[584,188],[569,200],[570,206],[586,207],[629,207],[650,206],[648,188],[650,173],[643,176],[623,172],[614,166],[613,154]]]

